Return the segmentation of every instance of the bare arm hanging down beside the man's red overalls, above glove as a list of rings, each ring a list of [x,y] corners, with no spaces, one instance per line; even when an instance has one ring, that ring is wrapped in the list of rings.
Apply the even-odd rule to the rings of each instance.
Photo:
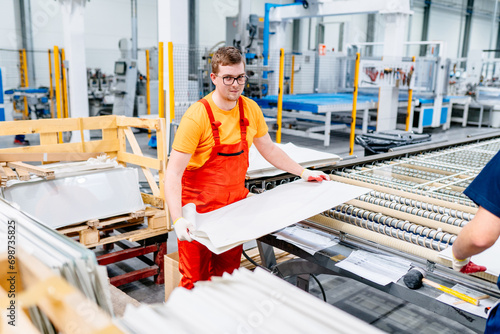
[[[165,173],[165,199],[172,222],[182,217],[182,175],[191,154],[172,150]]]

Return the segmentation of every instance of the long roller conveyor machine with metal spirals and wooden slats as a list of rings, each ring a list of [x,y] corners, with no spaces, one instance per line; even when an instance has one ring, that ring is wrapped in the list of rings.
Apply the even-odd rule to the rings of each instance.
[[[445,304],[437,299],[440,291],[425,287],[410,290],[402,279],[380,285],[337,264],[357,250],[393,256],[426,269],[429,279],[447,287],[460,284],[479,295],[499,298],[497,275],[467,276],[454,272],[451,262],[440,253],[453,244],[456,234],[473,218],[477,208],[462,192],[499,149],[500,136],[496,133],[466,141],[421,145],[418,149],[403,148],[323,167],[335,181],[372,191],[300,222],[308,229],[336,237],[337,245],[311,255],[268,235],[259,239],[263,264],[282,276],[328,273],[355,279],[482,332],[484,311],[478,315]],[[258,193],[294,179],[290,175],[250,179],[247,187]],[[267,251],[269,245],[301,259],[276,266]],[[303,279],[301,284],[307,289]]]

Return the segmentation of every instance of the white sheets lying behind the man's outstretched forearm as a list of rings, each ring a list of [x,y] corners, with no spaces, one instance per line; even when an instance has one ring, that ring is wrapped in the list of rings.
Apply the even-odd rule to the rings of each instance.
[[[333,165],[340,160],[340,157],[336,154],[311,150],[309,148],[295,146],[292,143],[276,145],[285,151],[290,158],[305,168]],[[249,167],[247,176],[250,178],[269,177],[284,173],[281,169],[277,169],[267,162],[253,145],[250,147],[248,159]]]

